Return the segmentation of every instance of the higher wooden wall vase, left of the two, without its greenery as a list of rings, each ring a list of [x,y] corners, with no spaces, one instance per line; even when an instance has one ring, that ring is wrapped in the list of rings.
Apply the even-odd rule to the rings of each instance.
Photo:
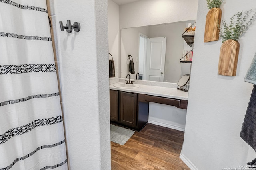
[[[212,8],[207,13],[205,29],[204,29],[204,42],[219,40],[219,29],[221,20],[221,9]]]

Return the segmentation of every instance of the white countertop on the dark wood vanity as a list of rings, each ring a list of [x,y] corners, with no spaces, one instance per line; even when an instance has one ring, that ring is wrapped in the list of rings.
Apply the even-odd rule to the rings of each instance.
[[[114,84],[118,84],[118,83],[114,83]],[[115,87],[114,84],[109,85],[109,88],[111,90],[119,90],[124,92],[133,92],[133,93],[140,93],[140,94],[148,94],[152,96],[161,96],[166,98],[188,100],[188,92],[183,92],[181,90],[178,90],[177,88],[149,86],[149,85],[143,85],[143,84],[136,84],[139,86],[138,88],[118,88],[118,87]]]

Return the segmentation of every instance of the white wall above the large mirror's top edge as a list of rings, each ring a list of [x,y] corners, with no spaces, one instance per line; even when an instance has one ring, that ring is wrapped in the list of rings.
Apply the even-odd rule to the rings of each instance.
[[[120,29],[194,20],[198,0],[140,0],[120,6]]]

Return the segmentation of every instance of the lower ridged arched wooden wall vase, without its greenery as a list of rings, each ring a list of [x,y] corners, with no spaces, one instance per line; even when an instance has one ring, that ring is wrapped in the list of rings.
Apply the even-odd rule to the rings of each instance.
[[[232,39],[226,40],[221,45],[218,74],[236,76],[239,46],[239,42]]]

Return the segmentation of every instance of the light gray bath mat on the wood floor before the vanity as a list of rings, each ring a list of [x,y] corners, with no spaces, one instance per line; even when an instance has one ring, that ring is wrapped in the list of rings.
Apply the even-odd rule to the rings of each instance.
[[[134,134],[135,131],[126,129],[124,127],[119,127],[115,125],[110,125],[110,138],[114,143],[124,145],[128,139]]]

